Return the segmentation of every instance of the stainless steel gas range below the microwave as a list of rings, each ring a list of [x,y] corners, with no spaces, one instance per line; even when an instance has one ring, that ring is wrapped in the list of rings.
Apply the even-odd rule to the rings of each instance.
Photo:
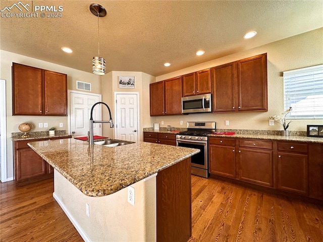
[[[216,122],[187,122],[187,131],[176,135],[176,145],[199,149],[200,153],[191,157],[191,172],[208,177],[208,137],[216,131]]]

